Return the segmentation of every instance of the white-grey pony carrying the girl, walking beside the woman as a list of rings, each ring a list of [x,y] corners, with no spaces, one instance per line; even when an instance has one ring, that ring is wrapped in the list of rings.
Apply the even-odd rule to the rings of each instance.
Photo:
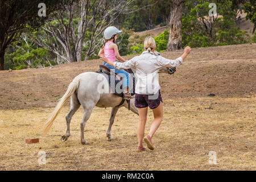
[[[165,71],[165,69],[168,68],[163,68],[162,71]],[[111,93],[107,78],[104,75],[96,72],[81,73],[73,79],[73,81],[69,84],[64,96],[60,98],[55,110],[49,116],[46,122],[46,128],[44,129],[44,134],[49,131],[53,121],[57,117],[57,114],[59,114],[61,108],[68,101],[69,97],[71,98],[71,107],[68,114],[65,115],[67,129],[65,135],[61,137],[61,142],[65,142],[70,136],[69,125],[71,118],[76,113],[77,109],[79,109],[80,105],[82,105],[82,108],[84,109],[84,115],[80,122],[81,143],[88,143],[88,141],[84,139],[84,128],[95,106],[112,107],[106,137],[109,141],[113,139],[111,135],[111,128],[114,123],[115,114],[117,113],[119,107],[128,108],[128,104],[127,102],[123,102],[121,106],[118,106],[122,101],[122,97]],[[138,109],[134,105],[134,98],[130,100],[130,110],[138,115]]]

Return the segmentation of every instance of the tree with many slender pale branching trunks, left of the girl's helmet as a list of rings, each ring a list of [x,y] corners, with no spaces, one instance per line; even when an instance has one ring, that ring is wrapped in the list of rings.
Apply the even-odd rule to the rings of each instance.
[[[131,2],[80,0],[63,5],[42,26],[43,31],[39,31],[34,40],[65,63],[88,60],[102,46],[105,28],[127,13]]]

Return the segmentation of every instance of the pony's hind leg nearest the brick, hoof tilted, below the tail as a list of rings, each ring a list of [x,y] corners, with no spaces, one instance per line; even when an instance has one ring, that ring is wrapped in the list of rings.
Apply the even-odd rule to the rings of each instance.
[[[69,110],[68,114],[65,115],[66,122],[67,122],[66,134],[61,137],[61,142],[65,142],[68,139],[68,137],[70,136],[69,126],[70,126],[71,118],[76,113],[77,109],[79,109],[79,107],[80,107],[79,100],[77,99],[77,96],[76,96],[75,93],[72,94],[72,96],[71,96],[70,106],[71,107],[70,107],[70,110]]]

